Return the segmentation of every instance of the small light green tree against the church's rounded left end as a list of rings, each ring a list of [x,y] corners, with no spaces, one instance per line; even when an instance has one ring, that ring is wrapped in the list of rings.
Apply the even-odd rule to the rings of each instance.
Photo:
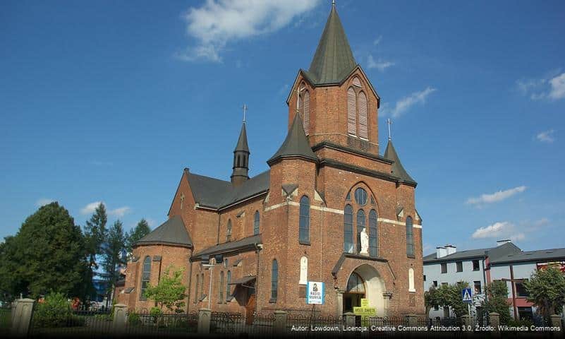
[[[169,311],[182,312],[186,298],[186,287],[182,283],[184,269],[175,270],[170,275],[171,268],[174,269],[173,266],[166,268],[157,286],[147,285],[145,297],[157,302],[161,310],[166,307]]]

